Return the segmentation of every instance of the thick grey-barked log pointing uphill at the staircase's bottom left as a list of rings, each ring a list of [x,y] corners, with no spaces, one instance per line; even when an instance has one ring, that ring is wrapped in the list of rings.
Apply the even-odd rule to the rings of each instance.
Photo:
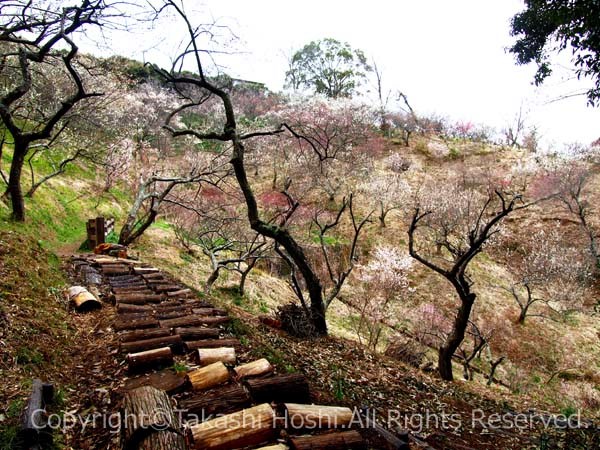
[[[186,442],[169,396],[152,386],[143,386],[123,398],[123,448],[184,450]]]

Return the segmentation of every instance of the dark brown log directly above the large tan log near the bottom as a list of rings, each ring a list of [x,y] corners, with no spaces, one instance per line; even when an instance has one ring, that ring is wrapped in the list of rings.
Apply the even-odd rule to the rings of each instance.
[[[179,409],[187,414],[208,417],[213,414],[227,414],[250,406],[248,392],[238,385],[225,386],[209,392],[194,394],[179,402]]]

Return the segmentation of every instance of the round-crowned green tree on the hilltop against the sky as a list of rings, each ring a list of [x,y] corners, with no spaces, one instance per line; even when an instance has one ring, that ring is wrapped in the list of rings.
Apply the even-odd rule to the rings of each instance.
[[[294,53],[286,72],[286,86],[312,89],[330,98],[351,97],[371,70],[362,51],[327,38]]]

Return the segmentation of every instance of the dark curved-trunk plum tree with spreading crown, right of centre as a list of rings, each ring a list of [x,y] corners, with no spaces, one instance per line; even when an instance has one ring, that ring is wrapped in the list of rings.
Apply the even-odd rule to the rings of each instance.
[[[469,265],[499,231],[503,219],[529,206],[520,194],[493,186],[477,186],[467,179],[444,189],[436,185],[420,192],[408,230],[410,255],[444,277],[460,304],[438,351],[438,370],[452,380],[452,358],[465,338],[477,294]]]

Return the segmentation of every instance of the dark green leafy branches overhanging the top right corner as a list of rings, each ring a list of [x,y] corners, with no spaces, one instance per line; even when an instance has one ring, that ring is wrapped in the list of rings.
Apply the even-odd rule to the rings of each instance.
[[[518,64],[538,66],[536,85],[551,73],[549,55],[568,48],[578,78],[591,78],[588,102],[600,100],[600,2],[597,0],[526,0],[516,14],[511,34],[518,39],[510,48]]]

